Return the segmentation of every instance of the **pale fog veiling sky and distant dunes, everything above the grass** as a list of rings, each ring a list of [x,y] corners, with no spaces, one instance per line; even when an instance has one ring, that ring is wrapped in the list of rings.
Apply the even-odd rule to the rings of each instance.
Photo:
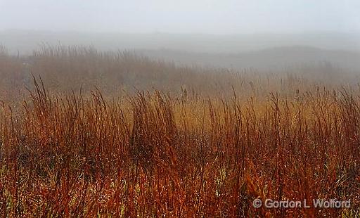
[[[360,69],[360,1],[0,0],[0,44],[134,50],[175,63]]]

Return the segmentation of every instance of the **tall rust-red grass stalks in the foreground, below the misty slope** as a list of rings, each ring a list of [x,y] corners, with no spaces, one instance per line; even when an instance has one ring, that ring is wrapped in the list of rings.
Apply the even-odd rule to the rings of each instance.
[[[359,217],[354,91],[108,101],[43,84],[0,117],[4,217]],[[252,207],[256,198],[350,208]]]

